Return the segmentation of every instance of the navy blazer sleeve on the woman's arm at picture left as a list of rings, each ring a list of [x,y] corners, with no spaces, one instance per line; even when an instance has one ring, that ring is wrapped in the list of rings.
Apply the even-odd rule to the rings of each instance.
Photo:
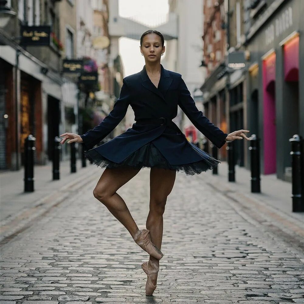
[[[112,111],[106,116],[102,122],[95,126],[92,130],[88,130],[81,135],[82,144],[85,150],[92,149],[97,143],[105,138],[125,117],[128,106],[130,104],[130,88],[123,78],[123,85],[120,90],[119,98],[114,103]]]

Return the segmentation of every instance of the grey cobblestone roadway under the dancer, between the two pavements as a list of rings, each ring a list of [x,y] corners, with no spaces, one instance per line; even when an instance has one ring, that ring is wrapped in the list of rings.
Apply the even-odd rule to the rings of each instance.
[[[149,208],[149,169],[117,192],[139,228]],[[102,170],[92,167],[96,182]],[[2,247],[1,304],[304,303],[304,259],[204,183],[178,173],[164,213],[160,271],[145,295],[148,254],[94,198],[75,189]]]

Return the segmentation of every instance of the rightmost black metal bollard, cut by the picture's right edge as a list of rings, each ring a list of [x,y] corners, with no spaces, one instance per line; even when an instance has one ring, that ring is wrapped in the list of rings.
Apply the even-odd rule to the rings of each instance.
[[[295,134],[289,139],[292,156],[292,212],[304,211],[303,138]]]

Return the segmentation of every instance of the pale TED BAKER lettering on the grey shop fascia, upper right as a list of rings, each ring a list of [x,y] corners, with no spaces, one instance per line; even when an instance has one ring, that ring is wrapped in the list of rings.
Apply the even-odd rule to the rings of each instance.
[[[265,30],[266,45],[272,43],[275,37],[279,37],[290,26],[292,26],[292,8],[288,7]]]

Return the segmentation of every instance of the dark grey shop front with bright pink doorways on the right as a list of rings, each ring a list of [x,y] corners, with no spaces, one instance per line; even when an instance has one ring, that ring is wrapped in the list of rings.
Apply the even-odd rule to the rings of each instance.
[[[291,181],[288,140],[304,136],[304,2],[280,3],[248,36],[247,119],[261,139],[261,173]]]

